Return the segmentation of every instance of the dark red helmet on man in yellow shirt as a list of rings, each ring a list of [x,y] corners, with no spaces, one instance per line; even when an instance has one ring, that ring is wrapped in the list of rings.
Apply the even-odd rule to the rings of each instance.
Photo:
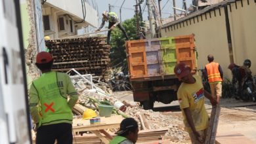
[[[190,67],[188,67],[188,65],[186,65],[186,63],[183,62],[178,63],[174,68],[174,73],[179,78],[180,81],[182,77],[189,75],[190,71]]]

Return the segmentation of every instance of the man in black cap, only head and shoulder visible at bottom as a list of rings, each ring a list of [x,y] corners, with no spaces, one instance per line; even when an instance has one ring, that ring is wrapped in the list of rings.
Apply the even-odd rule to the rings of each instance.
[[[110,144],[133,144],[139,136],[138,122],[134,118],[125,118],[121,121],[120,129]]]

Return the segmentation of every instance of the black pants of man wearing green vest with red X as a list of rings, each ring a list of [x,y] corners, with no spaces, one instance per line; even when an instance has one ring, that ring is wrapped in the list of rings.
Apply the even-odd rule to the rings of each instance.
[[[40,126],[37,130],[36,144],[72,144],[72,124],[60,123]]]

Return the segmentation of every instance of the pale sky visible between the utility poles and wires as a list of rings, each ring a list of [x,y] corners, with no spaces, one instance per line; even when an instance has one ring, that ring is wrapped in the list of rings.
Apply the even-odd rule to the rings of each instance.
[[[123,1],[125,1],[123,3]],[[102,12],[103,10],[108,10],[108,4],[112,5],[113,7],[111,8],[113,12],[116,12],[116,14],[120,17],[120,12],[119,9],[121,7],[121,4],[123,3],[123,7],[121,9],[121,20],[126,20],[129,18],[132,18],[133,15],[135,14],[135,7],[133,5],[136,4],[135,0],[96,0],[96,3],[98,5],[98,14],[100,19],[102,18]],[[156,0],[156,3],[158,3],[158,0]],[[187,7],[190,6],[192,3],[192,0],[186,0],[186,5]],[[146,0],[141,5],[141,9],[143,12],[143,20],[148,19],[148,7],[144,8],[144,5],[146,4]],[[161,15],[162,18],[167,18],[171,14],[173,14],[173,0],[161,0]],[[176,7],[182,8],[182,0],[176,0]],[[144,10],[144,11],[143,11]],[[179,11],[177,10],[177,13]]]

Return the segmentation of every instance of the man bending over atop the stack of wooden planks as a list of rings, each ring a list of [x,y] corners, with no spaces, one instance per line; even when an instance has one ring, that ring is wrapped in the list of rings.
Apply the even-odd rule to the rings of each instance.
[[[121,26],[120,20],[115,12],[107,12],[106,10],[104,10],[104,12],[102,13],[102,23],[101,23],[100,27],[98,27],[98,29],[96,29],[96,31],[100,31],[100,29],[102,29],[102,27],[104,26],[105,22],[109,22],[108,29],[110,29],[108,31],[108,38],[107,38],[108,44],[110,44],[110,33],[116,26],[119,29],[121,29],[121,31],[123,32],[123,35],[125,35],[126,40],[127,41],[129,40],[129,37],[125,31],[125,28],[123,26]]]

